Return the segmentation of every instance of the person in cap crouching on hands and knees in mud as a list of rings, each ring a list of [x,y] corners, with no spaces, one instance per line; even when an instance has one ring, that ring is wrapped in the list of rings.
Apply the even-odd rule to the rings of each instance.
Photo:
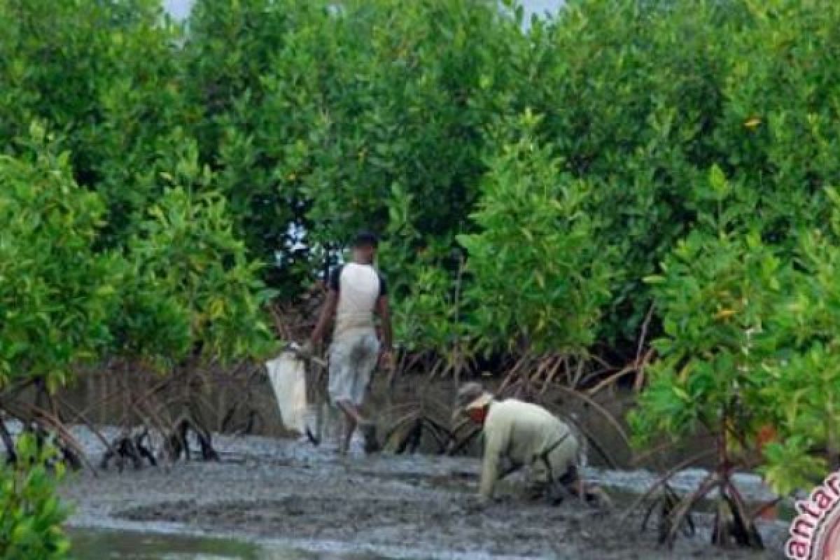
[[[482,503],[492,500],[496,482],[507,474],[502,472],[507,462],[513,469],[528,468],[533,497],[558,503],[570,494],[594,505],[609,505],[603,490],[587,486],[580,478],[583,452],[578,436],[542,406],[517,399],[495,400],[478,383],[460,388],[458,405],[459,411],[484,428]]]

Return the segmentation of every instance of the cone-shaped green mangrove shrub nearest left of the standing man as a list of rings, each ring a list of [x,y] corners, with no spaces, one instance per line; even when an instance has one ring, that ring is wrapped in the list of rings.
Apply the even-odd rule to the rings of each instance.
[[[189,150],[187,150],[189,151]],[[272,292],[261,264],[235,237],[228,204],[209,190],[213,175],[192,159],[136,224],[126,258],[118,353],[173,365],[190,353],[224,362],[270,351],[262,305]]]

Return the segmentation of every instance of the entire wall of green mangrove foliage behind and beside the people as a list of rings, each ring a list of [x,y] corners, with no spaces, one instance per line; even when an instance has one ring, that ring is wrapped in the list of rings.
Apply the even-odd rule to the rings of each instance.
[[[0,0],[0,385],[270,352],[365,226],[404,348],[623,363],[650,311],[643,435],[737,398],[774,484],[819,467],[840,4],[505,4]]]

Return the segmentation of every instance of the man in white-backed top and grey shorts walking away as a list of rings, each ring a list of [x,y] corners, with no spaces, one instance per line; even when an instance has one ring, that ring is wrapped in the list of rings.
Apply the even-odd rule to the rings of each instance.
[[[308,352],[323,340],[329,322],[335,319],[329,347],[328,393],[344,413],[344,437],[339,453],[347,453],[358,426],[365,437],[365,451],[375,452],[375,425],[365,420],[360,408],[377,360],[391,363],[391,315],[385,278],[374,268],[375,234],[361,232],[353,240],[352,261],[333,270],[327,301],[312,331]],[[381,320],[382,342],[376,338],[374,315]],[[380,350],[382,350],[380,356]]]

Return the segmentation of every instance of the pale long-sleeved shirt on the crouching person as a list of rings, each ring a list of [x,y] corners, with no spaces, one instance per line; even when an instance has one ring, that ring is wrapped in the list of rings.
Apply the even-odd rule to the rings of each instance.
[[[494,400],[484,423],[484,462],[480,495],[491,498],[502,458],[517,465],[533,465],[547,453],[565,468],[577,460],[578,441],[570,427],[542,406],[517,399]],[[564,473],[557,473],[558,475]]]

